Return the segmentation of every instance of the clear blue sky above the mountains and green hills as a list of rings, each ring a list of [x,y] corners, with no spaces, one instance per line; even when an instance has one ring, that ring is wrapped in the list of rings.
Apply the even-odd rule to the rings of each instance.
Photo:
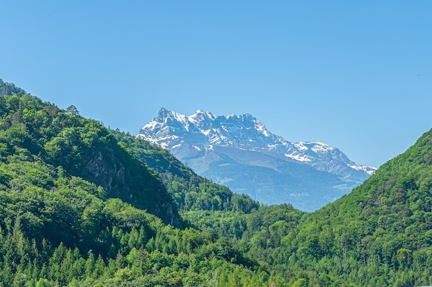
[[[250,113],[380,166],[432,128],[432,1],[19,1],[0,78],[135,135]]]

